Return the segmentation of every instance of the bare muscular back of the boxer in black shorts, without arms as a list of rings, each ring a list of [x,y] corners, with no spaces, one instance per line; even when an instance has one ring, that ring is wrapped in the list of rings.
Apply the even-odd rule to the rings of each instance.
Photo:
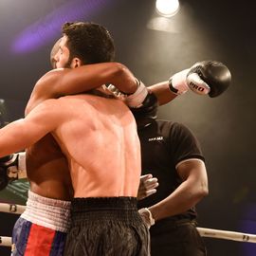
[[[137,196],[140,146],[123,102],[92,95],[61,98],[53,136],[68,159],[75,197]]]

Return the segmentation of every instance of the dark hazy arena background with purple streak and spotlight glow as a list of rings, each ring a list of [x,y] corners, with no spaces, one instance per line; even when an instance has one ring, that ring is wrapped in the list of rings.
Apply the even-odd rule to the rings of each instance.
[[[225,94],[210,99],[188,92],[162,106],[159,117],[185,123],[201,142],[210,194],[198,205],[199,226],[256,234],[253,2],[180,0],[180,11],[160,25],[166,31],[159,31],[149,28],[159,17],[155,0],[0,0],[2,114],[6,121],[23,116],[34,83],[50,69],[49,52],[64,21],[107,27],[116,42],[116,60],[148,85],[197,61],[223,62],[232,74]],[[1,236],[11,236],[16,218],[0,214]],[[256,255],[255,244],[205,241],[210,256]],[[0,247],[0,255],[9,255],[9,248]]]

